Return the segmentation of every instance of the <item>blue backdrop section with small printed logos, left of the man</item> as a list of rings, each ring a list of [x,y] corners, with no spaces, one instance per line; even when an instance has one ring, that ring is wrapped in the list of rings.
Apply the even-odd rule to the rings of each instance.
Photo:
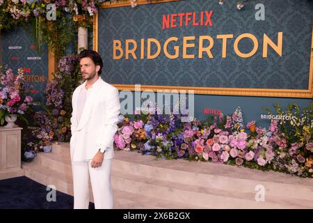
[[[17,69],[24,68],[26,82],[33,89],[34,101],[45,103],[44,89],[48,80],[47,46],[44,45],[42,52],[38,52],[30,30],[31,27],[19,27],[2,33],[2,63],[15,73]]]

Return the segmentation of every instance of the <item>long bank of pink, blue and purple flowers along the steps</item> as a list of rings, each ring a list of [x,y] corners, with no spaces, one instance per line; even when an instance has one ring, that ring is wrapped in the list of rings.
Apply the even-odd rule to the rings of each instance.
[[[273,119],[268,128],[257,127],[255,121],[244,125],[242,111],[236,108],[230,116],[214,116],[200,122],[191,118],[182,123],[177,115],[120,116],[114,137],[118,150],[137,150],[157,158],[196,160],[274,170],[313,178],[312,107],[303,109],[289,105],[291,121]],[[291,112],[296,109],[296,112]]]

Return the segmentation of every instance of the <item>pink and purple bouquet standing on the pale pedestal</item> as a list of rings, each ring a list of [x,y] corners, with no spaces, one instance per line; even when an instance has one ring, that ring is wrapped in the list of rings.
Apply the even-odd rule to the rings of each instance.
[[[10,68],[0,73],[0,125],[3,125],[4,117],[11,114],[26,121],[24,114],[31,110],[33,102],[33,98],[27,95],[26,87],[22,68],[17,75]]]

